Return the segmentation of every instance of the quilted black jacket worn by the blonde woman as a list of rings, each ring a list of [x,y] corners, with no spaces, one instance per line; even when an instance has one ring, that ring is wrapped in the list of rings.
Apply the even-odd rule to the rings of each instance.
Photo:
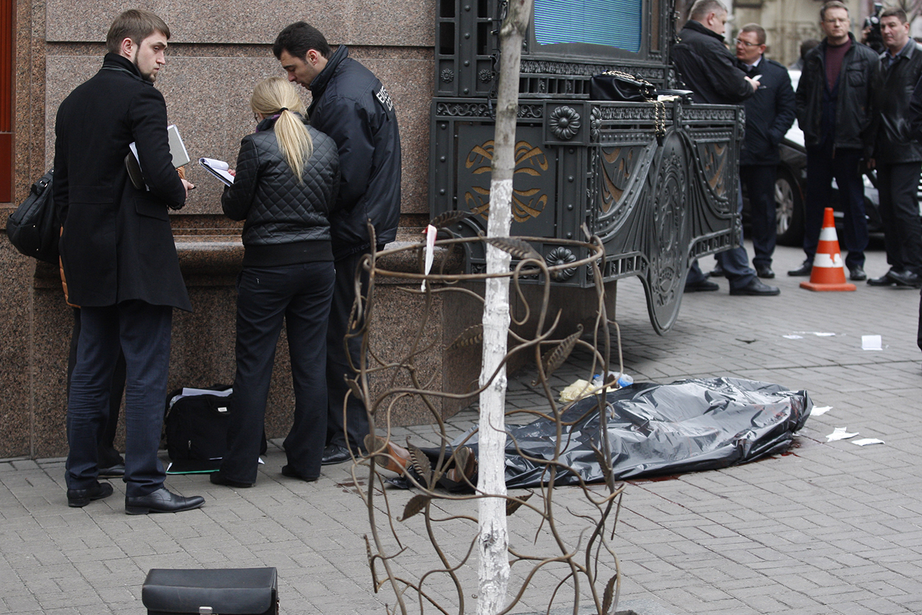
[[[279,266],[333,260],[329,216],[339,186],[339,157],[332,138],[308,126],[313,154],[303,183],[278,148],[273,121],[244,136],[234,183],[221,207],[243,225],[244,266]]]

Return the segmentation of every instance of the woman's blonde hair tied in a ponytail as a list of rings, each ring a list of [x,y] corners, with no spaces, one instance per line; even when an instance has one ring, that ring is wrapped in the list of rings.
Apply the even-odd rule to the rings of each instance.
[[[278,147],[282,150],[291,172],[298,178],[298,183],[304,183],[304,166],[313,153],[313,141],[307,126],[295,115],[297,112],[305,116],[307,109],[294,86],[284,77],[264,79],[257,83],[253,90],[250,108],[254,113],[266,117],[285,110],[280,112],[275,125]]]

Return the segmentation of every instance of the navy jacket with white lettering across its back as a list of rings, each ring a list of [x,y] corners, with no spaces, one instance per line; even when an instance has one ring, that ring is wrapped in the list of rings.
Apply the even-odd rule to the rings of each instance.
[[[372,72],[339,45],[311,82],[311,125],[339,147],[337,212],[330,219],[337,259],[396,238],[400,219],[400,131],[394,101]],[[374,247],[374,246],[371,246]]]

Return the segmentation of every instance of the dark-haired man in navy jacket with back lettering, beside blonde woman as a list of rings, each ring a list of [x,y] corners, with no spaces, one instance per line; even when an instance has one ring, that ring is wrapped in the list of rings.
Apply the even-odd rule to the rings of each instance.
[[[337,210],[330,217],[337,279],[326,336],[326,386],[329,395],[323,463],[336,464],[361,451],[368,416],[360,399],[349,395],[345,377],[354,378],[361,359],[361,338],[349,334],[355,302],[356,269],[365,254],[396,238],[400,218],[400,133],[394,101],[372,72],[349,57],[346,45],[336,53],[324,35],[299,21],[282,30],[272,46],[289,80],[311,90],[311,125],[333,137],[339,148]],[[368,223],[374,227],[374,243]],[[367,276],[361,278],[366,294]],[[345,404],[345,421],[344,418]]]

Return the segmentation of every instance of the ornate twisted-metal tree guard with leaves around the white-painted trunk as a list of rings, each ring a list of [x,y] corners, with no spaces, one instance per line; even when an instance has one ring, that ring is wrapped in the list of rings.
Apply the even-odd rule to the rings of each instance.
[[[466,214],[448,212],[432,220],[436,227],[447,228]],[[587,231],[584,232],[588,235]],[[444,234],[444,232],[443,232]],[[507,420],[523,423],[535,419],[556,422],[558,438],[552,459],[529,457],[525,452],[518,453],[531,461],[542,464],[545,468],[542,484],[538,489],[510,493],[506,499],[506,514],[522,518],[523,523],[530,524],[534,531],[534,542],[528,548],[513,544],[513,532],[509,547],[510,563],[514,578],[510,579],[510,602],[502,613],[509,612],[516,605],[520,606],[526,597],[528,588],[541,583],[543,587],[553,585],[548,609],[551,607],[573,606],[574,615],[581,599],[591,599],[594,612],[600,615],[613,613],[618,602],[621,585],[618,557],[611,546],[614,525],[620,510],[623,484],[616,484],[611,474],[609,438],[604,433],[605,420],[600,420],[600,433],[594,444],[598,463],[604,469],[605,484],[590,488],[584,482],[568,487],[579,490],[579,508],[574,508],[572,498],[568,498],[567,514],[570,519],[584,523],[584,529],[578,538],[566,539],[561,532],[561,512],[557,510],[554,497],[555,478],[568,468],[561,462],[561,429],[565,424],[561,419],[563,411],[569,405],[557,401],[549,384],[550,375],[566,361],[575,348],[591,353],[593,358],[588,380],[593,373],[609,373],[609,325],[610,322],[604,301],[604,290],[597,285],[598,312],[595,323],[590,330],[582,326],[575,331],[561,331],[558,328],[560,313],[548,313],[549,280],[567,275],[573,267],[588,266],[593,269],[594,278],[601,280],[601,271],[605,269],[605,248],[597,236],[587,237],[587,241],[554,240],[561,250],[550,265],[536,252],[529,242],[545,242],[547,238],[501,238],[484,237],[444,239],[436,242],[436,249],[442,254],[464,250],[469,254],[473,247],[482,251],[482,242],[491,242],[496,247],[513,255],[513,267],[508,274],[510,278],[510,295],[517,295],[519,301],[526,305],[523,317],[513,318],[513,327],[509,332],[509,352],[504,363],[515,354],[528,353],[537,366],[537,378],[533,386],[543,391],[546,399],[544,408],[509,409]],[[479,244],[479,245],[475,245]],[[355,366],[358,376],[349,382],[351,395],[359,396],[368,408],[371,423],[371,437],[367,441],[369,455],[358,458],[352,467],[355,484],[360,486],[361,497],[368,508],[371,525],[370,536],[366,536],[368,560],[372,572],[372,584],[375,592],[389,587],[394,593],[395,603],[388,607],[388,612],[405,615],[409,612],[465,613],[470,605],[466,597],[476,592],[477,577],[474,574],[472,587],[465,590],[465,581],[476,562],[472,562],[471,553],[476,545],[478,525],[477,518],[470,511],[472,501],[488,497],[477,491],[476,473],[469,472],[471,462],[468,460],[469,449],[461,443],[449,444],[442,413],[436,401],[445,397],[476,401],[478,384],[468,390],[445,391],[435,383],[441,383],[436,373],[425,373],[420,369],[420,356],[436,348],[440,342],[427,339],[427,321],[432,317],[433,301],[443,293],[464,293],[477,302],[482,297],[472,288],[474,284],[488,278],[488,274],[454,274],[446,273],[439,266],[435,272],[423,272],[425,262],[424,243],[408,245],[394,250],[385,250],[370,254],[361,265],[369,277],[368,293],[359,297],[353,309],[354,337],[361,337],[363,359],[361,365]],[[379,264],[389,255],[398,252],[417,253],[420,268],[416,272],[387,270]],[[572,258],[573,254],[587,254],[585,258]],[[405,254],[406,255],[406,254]],[[442,259],[442,263],[447,259]],[[360,275],[357,274],[357,275]],[[382,278],[400,278],[406,280],[405,290],[413,300],[424,306],[422,318],[416,330],[416,336],[404,340],[400,356],[384,358],[382,353],[370,344],[370,330],[374,323],[375,287]],[[358,280],[358,278],[357,278]],[[358,283],[358,282],[357,282]],[[412,286],[409,286],[409,285]],[[525,284],[538,284],[543,289],[543,299],[528,304],[522,287]],[[537,293],[536,293],[537,294]],[[532,325],[529,325],[532,324]],[[584,337],[591,337],[587,341]],[[464,333],[455,338],[446,350],[479,345],[482,342],[482,329],[479,325],[468,327]],[[620,355],[620,338],[619,338]],[[619,364],[621,360],[619,359]],[[623,371],[623,367],[619,372]],[[491,374],[491,381],[497,374]],[[377,384],[372,386],[371,380]],[[383,380],[382,380],[383,379]],[[608,380],[608,378],[606,378]],[[382,387],[381,383],[386,385]],[[486,384],[484,385],[486,386]],[[605,394],[617,386],[607,382],[597,387],[595,395],[597,404],[593,412],[604,416],[606,412]],[[395,404],[402,398],[418,397],[431,412],[433,429],[437,430],[440,444],[437,454],[429,451],[429,456],[410,442],[392,443],[390,432],[390,414]],[[409,459],[396,455],[391,444],[406,445]],[[465,453],[467,451],[467,453]],[[395,491],[381,474],[382,467],[394,469],[404,465],[408,467],[406,480],[412,485],[415,494],[403,504],[402,511],[394,503]],[[467,471],[466,471],[467,468]],[[367,474],[365,474],[367,473]],[[362,480],[367,477],[367,480]],[[451,479],[451,480],[446,480]],[[450,483],[461,487],[461,491],[446,491],[442,485]],[[464,489],[466,488],[466,489]],[[495,497],[495,496],[489,496]],[[514,522],[514,519],[510,519]],[[458,527],[460,526],[460,527]],[[568,527],[569,531],[570,527]],[[413,541],[419,536],[428,538],[421,553]],[[469,537],[457,538],[458,536]],[[473,558],[476,560],[476,557]],[[521,572],[526,569],[525,572]],[[562,572],[561,572],[562,571]],[[609,572],[606,572],[609,571]],[[614,571],[613,573],[610,571]],[[552,581],[548,581],[549,578]],[[514,587],[514,583],[519,585]],[[550,585],[549,585],[550,583]],[[581,585],[585,584],[585,585]],[[451,589],[445,590],[446,587]],[[443,591],[445,590],[445,591]],[[584,593],[585,590],[585,593]],[[446,593],[447,592],[447,593]],[[450,597],[445,597],[450,596]],[[583,611],[585,612],[585,610]]]

